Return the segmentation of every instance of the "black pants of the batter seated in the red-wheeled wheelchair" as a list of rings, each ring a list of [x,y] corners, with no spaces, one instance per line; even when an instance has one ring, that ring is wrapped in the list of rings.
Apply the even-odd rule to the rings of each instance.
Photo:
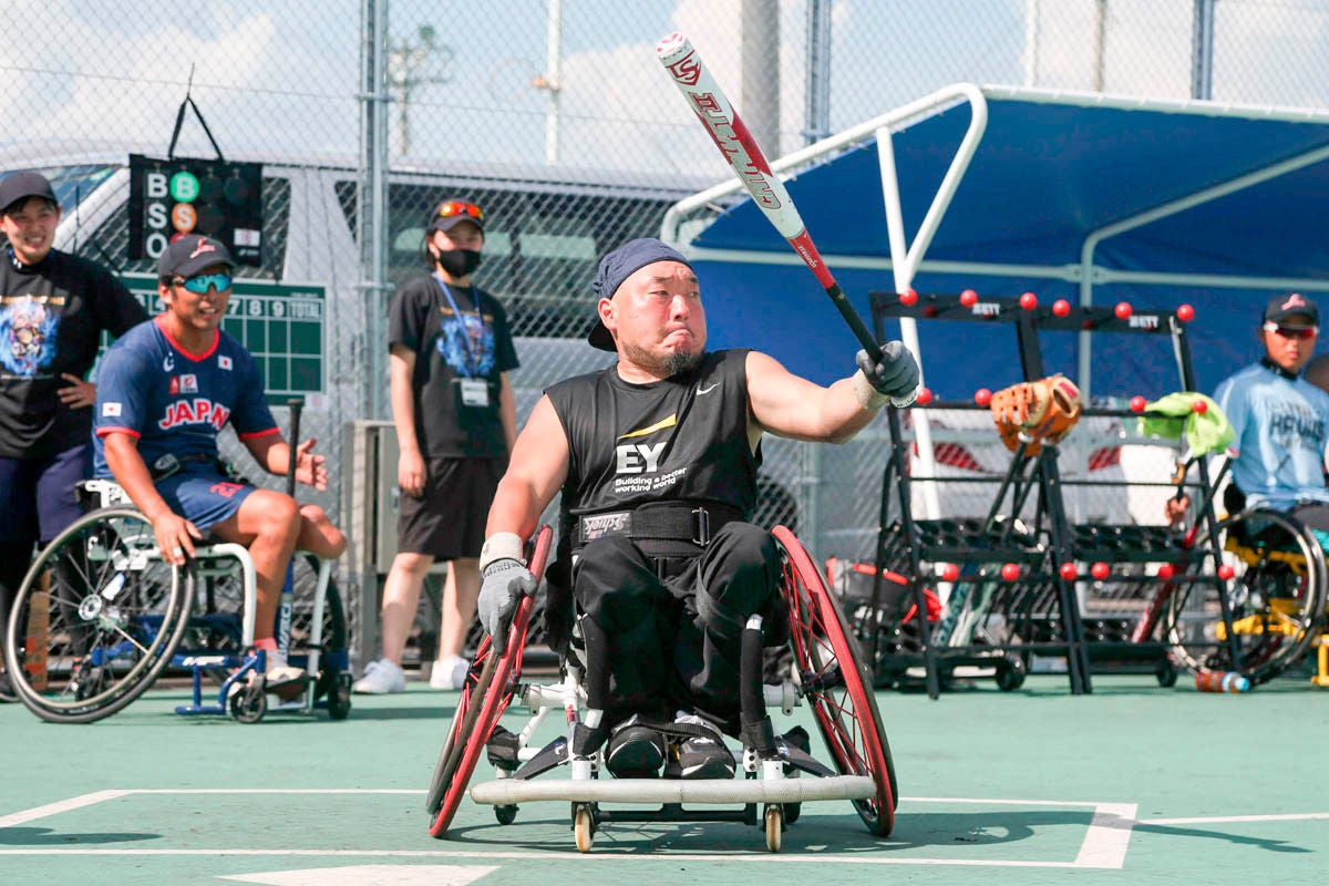
[[[690,709],[736,731],[748,616],[763,616],[767,644],[788,639],[779,578],[773,539],[751,523],[726,523],[692,558],[651,558],[621,535],[587,542],[573,570],[573,595],[599,628],[585,632],[587,643],[599,635],[607,646],[606,720],[631,713],[672,720],[675,711]]]

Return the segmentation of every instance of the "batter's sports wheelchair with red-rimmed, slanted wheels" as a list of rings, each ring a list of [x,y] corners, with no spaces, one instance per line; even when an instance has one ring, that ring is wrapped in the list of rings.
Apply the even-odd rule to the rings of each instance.
[[[542,527],[529,551],[529,569],[537,579],[549,558],[552,534]],[[785,826],[797,820],[803,802],[815,800],[848,800],[869,833],[889,836],[898,802],[894,764],[857,642],[808,551],[783,526],[775,527],[772,535],[780,551],[781,592],[791,622],[789,664],[777,684],[763,679],[763,671],[769,668],[763,667],[760,619],[754,616],[743,638],[744,720],[752,721],[754,709],[760,709],[764,720],[772,707],[792,715],[795,707],[808,705],[831,766],[788,741],[788,733],[775,736],[767,729],[767,740],[743,740],[740,774],[735,778],[611,778],[607,772],[599,778],[605,772],[603,751],[591,758],[570,752],[573,728],[586,709],[586,665],[567,655],[558,683],[522,681],[522,654],[534,607],[534,599],[528,596],[513,616],[506,648],[496,650],[485,638],[472,662],[429,784],[429,833],[448,836],[470,777],[485,756],[497,777],[470,788],[474,802],[493,805],[501,825],[516,821],[520,802],[569,802],[577,849],[583,853],[590,851],[595,832],[614,821],[739,821],[763,828],[767,849],[779,851]],[[509,708],[530,712],[520,732],[500,725]],[[554,711],[566,719],[566,735],[534,747],[536,729]],[[536,778],[556,770],[567,777]],[[657,808],[606,809],[610,804]]]

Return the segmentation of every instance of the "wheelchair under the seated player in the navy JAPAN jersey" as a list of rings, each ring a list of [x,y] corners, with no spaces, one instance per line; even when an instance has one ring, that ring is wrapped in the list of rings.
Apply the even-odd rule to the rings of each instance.
[[[202,545],[185,566],[161,559],[153,526],[118,485],[85,481],[94,510],[68,526],[33,562],[4,635],[19,699],[51,723],[93,723],[141,696],[170,671],[191,676],[193,703],[177,713],[230,713],[256,723],[274,709],[351,709],[347,628],[331,561],[296,554],[283,623],[290,662],[308,684],[295,699],[263,692],[266,654],[254,643],[255,574],[241,545]],[[203,703],[203,677],[218,680]],[[234,687],[234,689],[233,689]]]

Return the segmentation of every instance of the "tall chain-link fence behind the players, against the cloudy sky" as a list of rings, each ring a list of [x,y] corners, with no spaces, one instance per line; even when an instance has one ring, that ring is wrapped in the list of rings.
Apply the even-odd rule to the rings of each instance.
[[[368,36],[384,8],[387,32]],[[477,279],[518,336],[520,416],[549,383],[605,364],[583,344],[598,255],[655,234],[671,203],[730,175],[654,60],[672,31],[772,157],[956,81],[1329,105],[1329,0],[12,0],[5,11],[0,173],[52,177],[61,248],[153,271],[152,258],[129,258],[126,163],[166,157],[177,126],[177,157],[264,165],[262,264],[242,276],[320,291],[304,429],[338,466],[334,489],[314,497],[338,517],[360,470],[344,429],[387,417],[387,298],[423,270],[421,231],[443,197],[488,213]],[[369,49],[385,60],[377,84],[364,74]],[[387,138],[373,151],[376,102]],[[358,238],[384,159],[376,279]],[[272,355],[288,333],[258,317],[242,329]],[[768,441],[760,518],[793,523],[821,557],[870,558],[885,440],[878,421],[841,448]]]

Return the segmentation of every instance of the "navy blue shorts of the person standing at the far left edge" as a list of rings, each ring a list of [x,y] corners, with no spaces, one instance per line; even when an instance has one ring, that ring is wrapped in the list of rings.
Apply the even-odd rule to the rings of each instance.
[[[92,444],[48,458],[0,458],[0,542],[49,542],[82,517],[74,485],[92,477]]]

